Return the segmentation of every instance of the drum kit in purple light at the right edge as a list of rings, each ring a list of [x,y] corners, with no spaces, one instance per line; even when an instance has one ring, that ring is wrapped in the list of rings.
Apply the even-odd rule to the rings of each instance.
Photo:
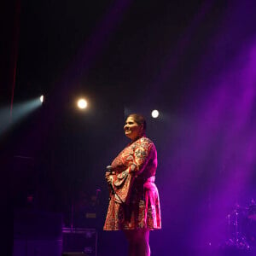
[[[256,204],[236,207],[227,215],[228,240],[225,246],[238,249],[256,247]]]

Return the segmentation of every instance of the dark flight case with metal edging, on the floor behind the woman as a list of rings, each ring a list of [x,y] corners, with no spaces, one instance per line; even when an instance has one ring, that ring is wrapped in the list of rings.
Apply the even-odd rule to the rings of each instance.
[[[63,255],[80,255],[67,253],[84,253],[88,256],[97,255],[96,229],[63,228],[62,229]]]

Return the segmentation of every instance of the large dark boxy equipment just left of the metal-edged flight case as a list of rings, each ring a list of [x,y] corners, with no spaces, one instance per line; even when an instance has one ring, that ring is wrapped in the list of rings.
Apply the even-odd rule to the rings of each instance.
[[[13,256],[61,256],[62,215],[15,210]]]

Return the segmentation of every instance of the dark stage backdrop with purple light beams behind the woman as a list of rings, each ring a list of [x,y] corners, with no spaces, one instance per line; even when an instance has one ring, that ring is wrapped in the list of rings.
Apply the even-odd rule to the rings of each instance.
[[[148,119],[158,149],[163,228],[151,234],[152,255],[253,250],[255,7],[249,0],[4,3],[7,250],[14,212],[27,209],[96,228],[99,256],[126,255],[124,237],[102,231],[104,172],[128,143],[123,124],[133,112]],[[41,94],[39,108],[20,105]],[[78,96],[89,100],[84,112],[74,105]],[[150,117],[154,108],[159,119]]]

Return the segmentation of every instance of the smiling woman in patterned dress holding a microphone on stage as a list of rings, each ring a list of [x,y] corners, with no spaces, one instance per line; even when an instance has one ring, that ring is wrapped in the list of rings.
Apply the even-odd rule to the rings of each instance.
[[[161,228],[160,200],[155,186],[157,152],[145,135],[146,121],[132,113],[124,126],[129,143],[108,166],[110,201],[104,230],[123,230],[129,256],[149,256],[149,231]]]

